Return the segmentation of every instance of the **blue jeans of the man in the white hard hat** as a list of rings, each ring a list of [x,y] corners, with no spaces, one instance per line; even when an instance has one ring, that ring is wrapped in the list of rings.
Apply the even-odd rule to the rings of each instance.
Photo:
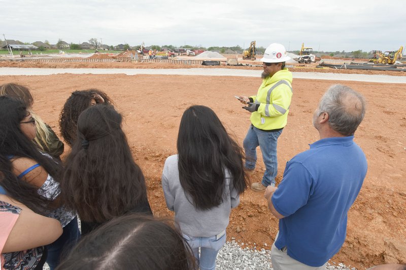
[[[275,185],[275,177],[278,173],[277,142],[281,133],[282,130],[267,132],[251,125],[243,142],[246,156],[245,168],[249,170],[255,169],[256,148],[258,146],[261,148],[262,159],[266,168],[261,181],[264,186]]]

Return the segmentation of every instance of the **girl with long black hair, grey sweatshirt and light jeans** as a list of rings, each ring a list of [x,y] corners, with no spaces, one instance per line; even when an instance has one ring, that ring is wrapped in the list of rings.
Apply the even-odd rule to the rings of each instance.
[[[177,148],[162,173],[166,205],[200,269],[215,269],[231,208],[247,188],[243,152],[216,113],[198,105],[183,113]]]

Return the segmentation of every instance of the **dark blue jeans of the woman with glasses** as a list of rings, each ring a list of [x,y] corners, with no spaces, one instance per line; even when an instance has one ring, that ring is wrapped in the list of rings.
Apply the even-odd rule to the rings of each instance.
[[[78,217],[75,217],[63,227],[62,235],[55,242],[46,246],[48,250],[47,263],[51,270],[58,266],[60,260],[63,259],[63,255],[69,253],[79,239]]]

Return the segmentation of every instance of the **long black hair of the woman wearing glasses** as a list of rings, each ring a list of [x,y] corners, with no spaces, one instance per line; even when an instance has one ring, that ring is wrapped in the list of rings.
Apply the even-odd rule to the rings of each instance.
[[[10,156],[35,160],[55,180],[59,178],[61,165],[51,157],[44,156],[22,133],[20,122],[26,115],[26,105],[20,100],[0,96],[0,170],[4,175],[1,185],[10,197],[37,213],[45,213],[49,201],[38,194],[38,187],[13,174]]]

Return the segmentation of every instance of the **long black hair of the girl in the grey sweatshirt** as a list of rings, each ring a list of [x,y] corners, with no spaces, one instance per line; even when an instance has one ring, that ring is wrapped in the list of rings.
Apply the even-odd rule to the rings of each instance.
[[[197,209],[223,202],[225,169],[239,194],[247,188],[243,151],[211,108],[195,105],[185,110],[177,148],[180,183]]]

